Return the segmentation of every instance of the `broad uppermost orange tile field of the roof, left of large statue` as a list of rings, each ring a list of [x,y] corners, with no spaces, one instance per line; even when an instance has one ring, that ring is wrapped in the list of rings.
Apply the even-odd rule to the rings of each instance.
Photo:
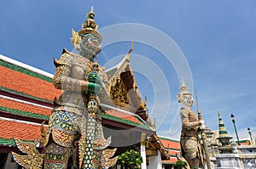
[[[55,96],[61,94],[61,90],[56,89],[51,82],[44,81],[43,79],[29,76],[3,66],[0,66],[0,72],[0,87],[48,100],[53,100]]]

